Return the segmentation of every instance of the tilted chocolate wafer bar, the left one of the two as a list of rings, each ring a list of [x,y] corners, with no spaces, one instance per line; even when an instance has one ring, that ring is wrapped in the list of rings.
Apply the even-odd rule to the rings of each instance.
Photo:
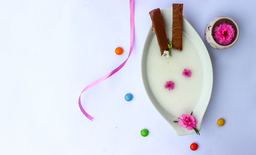
[[[160,9],[155,9],[150,12],[152,25],[157,35],[157,41],[163,55],[164,50],[169,50],[166,32],[164,28],[164,21]]]

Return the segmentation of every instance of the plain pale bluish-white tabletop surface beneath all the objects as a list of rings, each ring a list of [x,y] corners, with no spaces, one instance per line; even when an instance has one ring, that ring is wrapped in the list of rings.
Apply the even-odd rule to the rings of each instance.
[[[214,86],[200,136],[177,136],[148,99],[141,55],[148,12],[184,3],[183,15],[204,43],[207,22],[237,21],[238,42],[208,48]],[[110,79],[83,87],[129,53],[129,0],[0,1],[0,154],[255,154],[255,1],[135,0],[131,59]],[[121,56],[114,52],[124,49]],[[126,93],[134,99],[124,100]],[[226,123],[219,127],[217,120]],[[147,128],[150,134],[140,136]],[[191,151],[189,145],[198,143]]]

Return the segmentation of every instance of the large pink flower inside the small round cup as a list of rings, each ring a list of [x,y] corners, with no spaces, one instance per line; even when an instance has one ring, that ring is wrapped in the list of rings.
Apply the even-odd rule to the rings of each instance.
[[[221,45],[228,45],[234,37],[232,25],[223,23],[215,28],[214,39]]]

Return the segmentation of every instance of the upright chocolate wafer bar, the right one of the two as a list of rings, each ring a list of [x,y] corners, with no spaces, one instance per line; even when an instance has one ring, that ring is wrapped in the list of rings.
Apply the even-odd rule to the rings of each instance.
[[[183,4],[173,4],[173,48],[182,50],[182,11]]]

